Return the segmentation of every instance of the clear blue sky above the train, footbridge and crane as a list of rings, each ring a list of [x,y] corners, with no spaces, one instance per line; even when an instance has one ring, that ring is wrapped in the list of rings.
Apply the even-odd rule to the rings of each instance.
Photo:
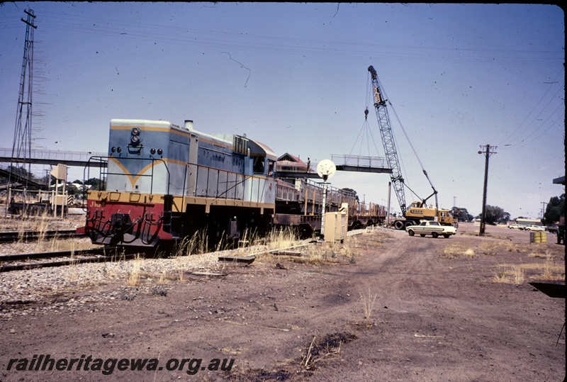
[[[478,151],[486,144],[498,146],[488,204],[537,218],[541,202],[564,192],[552,184],[565,173],[558,6],[1,3],[0,147],[13,142],[20,19],[29,8],[38,26],[35,148],[106,152],[111,118],[192,119],[196,130],[246,133],[313,164],[349,153],[383,157],[369,104],[373,65],[392,103],[406,182],[419,196],[431,188],[402,127],[441,207],[481,213]],[[81,169],[74,174],[82,179]],[[386,204],[388,180],[339,172],[331,182]]]

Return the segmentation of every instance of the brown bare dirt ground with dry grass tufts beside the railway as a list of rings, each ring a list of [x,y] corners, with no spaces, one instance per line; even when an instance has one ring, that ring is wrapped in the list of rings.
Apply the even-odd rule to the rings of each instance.
[[[0,305],[13,312],[0,321],[0,381],[563,381],[565,300],[529,281],[563,274],[564,247],[475,230],[461,225],[450,239],[376,230],[325,264],[266,256],[181,281]],[[162,369],[17,369],[34,354],[159,359]],[[193,375],[189,361],[167,370],[189,358],[203,359]],[[208,370],[212,359],[234,361]]]

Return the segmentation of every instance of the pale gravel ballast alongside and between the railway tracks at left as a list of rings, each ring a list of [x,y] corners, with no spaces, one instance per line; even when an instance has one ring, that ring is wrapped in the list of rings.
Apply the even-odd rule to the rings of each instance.
[[[84,220],[84,215],[73,215],[69,220],[52,219],[48,229],[57,229],[67,226],[79,226]],[[12,222],[13,223],[13,222]],[[20,223],[16,223],[18,225]],[[7,224],[5,223],[5,226]],[[14,226],[14,224],[12,224]],[[58,250],[85,249],[94,245],[88,238],[48,240],[46,242],[15,242],[0,244],[0,254],[54,252]],[[246,254],[262,252],[266,247],[254,247],[248,249],[236,249],[235,251],[223,251],[198,256],[179,256],[168,259],[139,259],[118,260],[116,262],[102,262],[90,264],[77,264],[72,266],[57,266],[42,269],[29,269],[24,271],[11,271],[0,274],[0,305],[21,305],[38,300],[51,300],[55,302],[50,308],[36,308],[44,310],[45,313],[67,307],[72,311],[82,309],[86,302],[115,298],[128,298],[128,283],[131,277],[139,276],[141,280],[157,285],[165,284],[171,280],[179,280],[191,274],[214,274],[223,272],[225,263],[218,262],[220,254]],[[35,262],[35,261],[33,261]],[[57,296],[62,293],[72,293],[74,290],[101,286],[107,283],[121,282],[125,284],[124,291],[113,291],[111,293],[94,291],[89,296],[72,298],[64,303],[57,303]],[[146,289],[149,289],[147,287]],[[26,309],[4,309],[0,310],[0,319],[11,320],[14,315],[27,315]]]

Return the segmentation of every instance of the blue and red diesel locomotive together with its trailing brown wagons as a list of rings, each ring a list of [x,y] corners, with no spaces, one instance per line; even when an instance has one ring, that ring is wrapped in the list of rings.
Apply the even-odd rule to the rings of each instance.
[[[102,245],[155,247],[196,232],[210,243],[265,235],[274,227],[320,230],[323,186],[289,176],[275,153],[245,135],[212,135],[164,120],[113,119],[107,157],[91,157],[84,232]],[[310,170],[305,168],[305,174]],[[326,212],[349,206],[352,225],[381,223],[382,206],[361,206],[350,189],[327,188]]]

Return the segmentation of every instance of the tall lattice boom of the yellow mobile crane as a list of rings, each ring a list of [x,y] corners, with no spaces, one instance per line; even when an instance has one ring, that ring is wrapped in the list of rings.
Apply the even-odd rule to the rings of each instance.
[[[386,99],[383,98],[378,84],[378,74],[372,65],[368,67],[368,71],[372,77],[372,89],[374,94],[374,108],[376,109],[376,118],[378,118],[378,127],[380,128],[380,136],[382,137],[382,144],[386,154],[386,161],[388,167],[392,169],[391,181],[395,191],[395,196],[398,198],[398,203],[402,210],[402,215],[405,216],[407,208],[405,206],[405,192],[402,172],[400,169],[400,161],[398,159],[398,152],[395,150],[394,136],[390,125],[390,117],[388,116],[388,109],[386,108]]]

